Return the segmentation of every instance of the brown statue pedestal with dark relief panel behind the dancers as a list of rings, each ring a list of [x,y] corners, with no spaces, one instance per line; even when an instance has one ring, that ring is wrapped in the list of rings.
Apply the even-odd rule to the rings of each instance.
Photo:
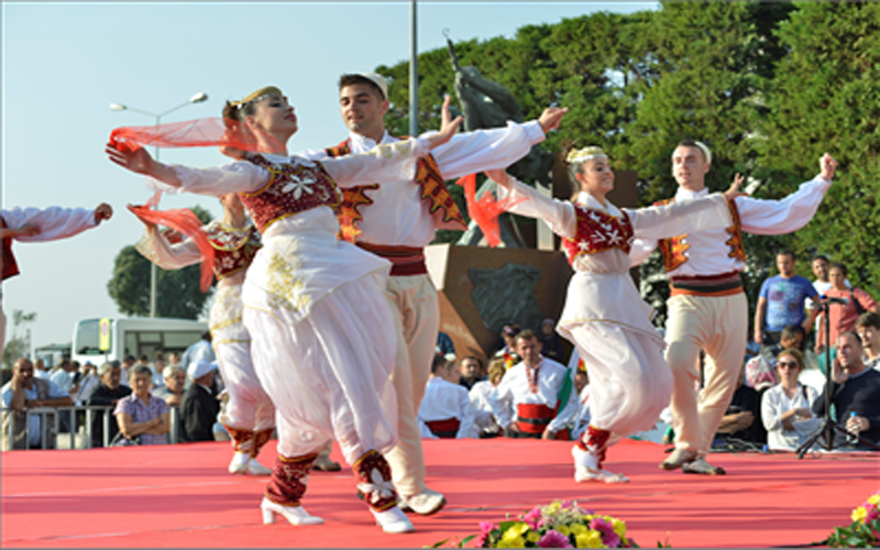
[[[428,272],[440,298],[440,330],[459,358],[486,360],[505,322],[540,330],[559,320],[572,270],[558,251],[431,244]]]

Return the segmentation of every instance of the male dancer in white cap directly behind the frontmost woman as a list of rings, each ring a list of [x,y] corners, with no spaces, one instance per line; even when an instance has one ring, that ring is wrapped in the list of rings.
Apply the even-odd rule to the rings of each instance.
[[[398,140],[385,130],[388,84],[381,75],[342,75],[339,103],[351,133],[324,154],[361,153]],[[449,98],[444,109],[448,106]],[[417,418],[440,327],[437,289],[425,266],[424,249],[438,229],[466,229],[443,182],[515,163],[543,141],[566,111],[549,108],[537,121],[455,135],[420,160],[415,174],[343,191],[340,237],[394,264],[386,296],[393,304],[398,337],[392,378],[397,392],[399,443],[387,459],[404,509],[429,515],[446,504],[442,494],[425,484]]]

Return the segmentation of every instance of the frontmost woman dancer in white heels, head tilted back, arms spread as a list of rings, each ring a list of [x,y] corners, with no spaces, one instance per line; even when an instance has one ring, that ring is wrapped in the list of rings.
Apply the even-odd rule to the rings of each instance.
[[[410,177],[415,157],[448,141],[461,123],[439,133],[381,145],[323,162],[289,156],[297,118],[275,87],[227,105],[258,154],[216,168],[167,166],[143,148],[111,140],[110,160],[173,187],[208,195],[240,193],[263,234],[263,248],[244,278],[244,326],[260,381],[278,409],[278,452],[261,505],[264,522],[280,514],[294,525],[320,524],[300,498],[324,441],[339,442],[383,530],[406,532],[413,524],[397,506],[391,469],[381,452],[397,440],[397,404],[391,385],[394,327],[384,297],[391,264],[340,241],[332,207],[337,185],[364,185]]]

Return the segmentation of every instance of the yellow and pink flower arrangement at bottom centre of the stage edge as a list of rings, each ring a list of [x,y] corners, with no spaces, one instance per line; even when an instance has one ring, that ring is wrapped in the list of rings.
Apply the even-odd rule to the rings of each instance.
[[[536,507],[498,525],[483,521],[480,530],[479,548],[638,548],[626,536],[624,521],[584,510],[570,501]],[[465,538],[459,547],[475,537]]]

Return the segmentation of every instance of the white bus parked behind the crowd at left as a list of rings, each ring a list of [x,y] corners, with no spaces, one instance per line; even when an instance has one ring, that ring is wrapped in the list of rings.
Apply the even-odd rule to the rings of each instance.
[[[106,350],[101,350],[101,319],[84,319],[74,326],[73,361],[90,361],[100,365],[122,361],[125,355],[146,355],[153,361],[155,352],[180,354],[198,342],[208,331],[208,323],[190,319],[131,318],[106,319]]]

